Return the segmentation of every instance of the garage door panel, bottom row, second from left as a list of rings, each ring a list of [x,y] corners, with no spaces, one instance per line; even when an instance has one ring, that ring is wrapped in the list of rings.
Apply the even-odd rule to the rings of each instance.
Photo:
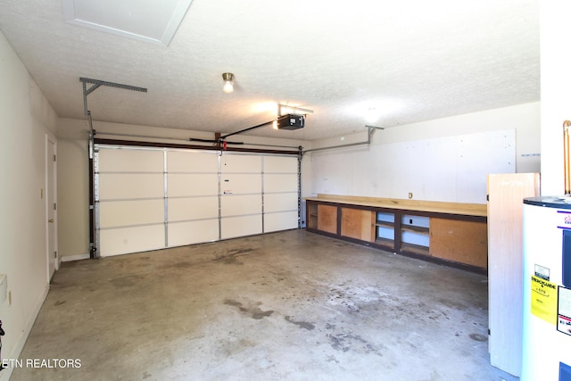
[[[169,246],[218,241],[218,219],[169,223]]]

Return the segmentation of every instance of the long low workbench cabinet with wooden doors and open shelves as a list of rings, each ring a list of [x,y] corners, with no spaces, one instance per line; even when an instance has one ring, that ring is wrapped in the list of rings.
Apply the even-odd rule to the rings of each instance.
[[[307,230],[397,254],[487,269],[486,205],[371,197],[306,198]]]

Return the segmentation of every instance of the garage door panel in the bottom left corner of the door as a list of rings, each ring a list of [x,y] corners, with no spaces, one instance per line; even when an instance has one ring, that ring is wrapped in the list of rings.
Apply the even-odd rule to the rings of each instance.
[[[164,224],[134,228],[102,229],[100,253],[111,255],[146,252],[164,248]]]

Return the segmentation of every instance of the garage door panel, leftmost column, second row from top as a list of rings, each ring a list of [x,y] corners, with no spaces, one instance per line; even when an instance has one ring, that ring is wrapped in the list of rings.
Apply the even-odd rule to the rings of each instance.
[[[101,173],[99,199],[164,197],[164,176],[159,173]]]

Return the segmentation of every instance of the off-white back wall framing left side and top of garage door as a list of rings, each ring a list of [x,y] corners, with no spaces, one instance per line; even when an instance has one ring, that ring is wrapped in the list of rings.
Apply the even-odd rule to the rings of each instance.
[[[155,128],[120,123],[94,121],[96,137],[153,141],[169,144],[189,144],[188,138],[212,139],[213,134],[201,131],[188,131],[175,128]],[[89,257],[89,173],[87,162],[87,120],[60,119],[58,124],[58,206],[59,250],[62,261],[71,261]],[[164,138],[156,138],[164,137]],[[245,145],[239,147],[266,148],[280,150],[282,145],[294,150],[307,142],[288,139],[249,137],[238,135],[228,139],[241,141]],[[250,144],[250,145],[248,145]],[[252,145],[256,144],[256,145]],[[200,145],[200,144],[198,144]],[[302,180],[303,186],[304,180]]]

